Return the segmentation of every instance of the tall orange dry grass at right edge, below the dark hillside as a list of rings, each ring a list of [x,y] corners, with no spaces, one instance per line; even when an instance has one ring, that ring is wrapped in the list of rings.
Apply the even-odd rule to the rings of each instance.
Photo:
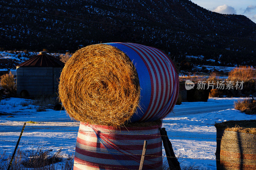
[[[256,78],[256,70],[250,66],[239,66],[228,73],[228,80],[230,81],[246,81]]]

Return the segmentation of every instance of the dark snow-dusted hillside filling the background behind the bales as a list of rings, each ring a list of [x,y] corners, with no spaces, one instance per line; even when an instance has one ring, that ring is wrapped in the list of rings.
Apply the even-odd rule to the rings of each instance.
[[[135,42],[176,60],[204,55],[216,63],[255,65],[256,24],[189,0],[2,0],[0,48],[70,50],[104,42]]]

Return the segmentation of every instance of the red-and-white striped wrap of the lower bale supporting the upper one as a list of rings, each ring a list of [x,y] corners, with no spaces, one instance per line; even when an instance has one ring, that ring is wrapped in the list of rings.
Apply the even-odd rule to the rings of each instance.
[[[162,169],[162,125],[120,127],[80,122],[74,170],[139,169],[144,140],[147,140],[143,169]]]

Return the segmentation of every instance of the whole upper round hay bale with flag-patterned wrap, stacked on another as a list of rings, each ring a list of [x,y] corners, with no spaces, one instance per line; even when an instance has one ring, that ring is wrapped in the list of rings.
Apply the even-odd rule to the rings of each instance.
[[[155,121],[176,103],[179,78],[162,51],[133,43],[77,50],[60,76],[60,100],[75,120],[118,127]]]

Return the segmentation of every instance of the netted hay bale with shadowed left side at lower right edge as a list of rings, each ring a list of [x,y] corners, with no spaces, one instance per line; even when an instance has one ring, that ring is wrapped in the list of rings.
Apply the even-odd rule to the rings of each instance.
[[[219,170],[256,169],[256,120],[216,123]]]

